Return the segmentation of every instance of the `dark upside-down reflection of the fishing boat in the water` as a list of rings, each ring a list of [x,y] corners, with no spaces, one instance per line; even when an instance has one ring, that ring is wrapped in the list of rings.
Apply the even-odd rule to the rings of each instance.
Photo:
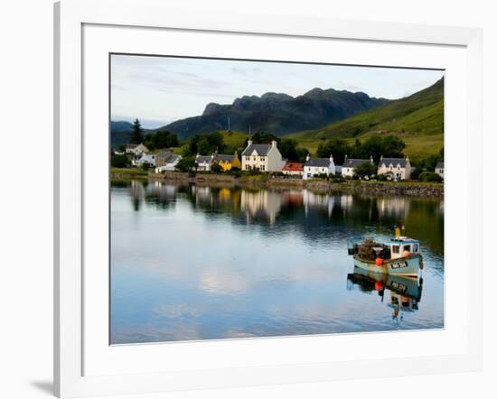
[[[391,274],[368,272],[354,266],[353,273],[347,274],[347,290],[360,289],[361,292],[378,292],[380,302],[389,296],[388,306],[392,310],[392,320],[399,324],[404,311],[417,311],[423,292],[423,278],[400,277]]]

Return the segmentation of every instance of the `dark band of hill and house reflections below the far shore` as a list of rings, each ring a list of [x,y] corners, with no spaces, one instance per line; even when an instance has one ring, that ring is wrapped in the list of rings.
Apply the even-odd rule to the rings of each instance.
[[[205,218],[230,216],[234,225],[270,228],[263,229],[262,234],[283,234],[291,228],[318,243],[366,234],[390,236],[394,225],[404,225],[408,236],[417,237],[436,255],[444,253],[443,200],[332,195],[305,189],[174,185],[160,181],[113,182],[112,187],[126,187],[136,211],[145,201],[159,209],[170,209],[181,198]]]

